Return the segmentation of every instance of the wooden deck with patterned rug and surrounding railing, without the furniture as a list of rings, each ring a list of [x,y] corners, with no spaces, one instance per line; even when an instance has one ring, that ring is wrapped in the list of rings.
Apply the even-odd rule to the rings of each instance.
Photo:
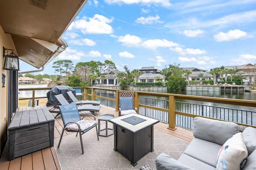
[[[125,91],[93,87],[80,88],[82,89],[84,98],[87,100],[101,101],[100,112],[97,112],[95,116],[97,121],[100,115],[111,114],[115,115],[115,117],[118,116],[119,97]],[[46,96],[36,97],[37,91],[47,89],[50,88],[20,89],[20,91],[32,91],[32,96],[20,98],[19,100],[32,99],[32,105],[34,106],[35,99],[41,100]],[[180,99],[190,102],[180,101]],[[196,104],[196,101],[211,102],[212,105]],[[218,104],[230,105],[230,108],[219,107]],[[234,105],[242,106],[244,110],[232,108],[231,106]],[[194,117],[199,116],[223,121],[233,121],[241,127],[256,127],[256,101],[156,92],[134,92],[134,106],[138,108],[138,114],[161,121],[154,125],[155,150],[140,158],[135,167],[130,164],[131,162],[127,158],[113,150],[113,135],[109,137],[100,136],[98,141],[95,129],[83,135],[83,146],[85,150],[83,155],[80,149],[79,137],[75,137],[75,133],[64,132],[63,141],[60,144],[60,148],[57,149],[63,129],[63,121],[60,116],[54,121],[54,147],[47,147],[9,161],[9,147],[7,145],[0,160],[0,167],[3,170],[139,169],[141,166],[148,164],[155,169],[154,159],[160,153],[166,153],[175,159],[181,156],[193,139],[191,130],[193,129]],[[18,111],[45,107],[45,105],[20,107]],[[48,109],[51,109],[51,107],[48,107]],[[80,112],[80,116],[83,117],[89,113],[83,111]],[[56,114],[52,113],[52,115],[55,117]],[[90,120],[89,117],[88,120]],[[101,127],[104,127],[104,121],[101,121]]]

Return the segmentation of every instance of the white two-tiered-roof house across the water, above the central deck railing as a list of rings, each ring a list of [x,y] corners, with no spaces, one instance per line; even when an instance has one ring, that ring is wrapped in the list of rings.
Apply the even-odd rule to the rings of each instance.
[[[138,77],[138,82],[142,83],[155,83],[156,81],[165,81],[163,75],[160,74],[161,70],[151,67],[141,67],[139,69],[141,75]]]

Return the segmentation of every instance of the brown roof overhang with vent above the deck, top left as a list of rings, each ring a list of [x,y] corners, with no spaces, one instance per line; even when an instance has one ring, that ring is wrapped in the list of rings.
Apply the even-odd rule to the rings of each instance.
[[[20,59],[40,68],[67,47],[66,43],[62,46],[60,37],[86,2],[4,0],[1,1],[0,26],[12,36]]]

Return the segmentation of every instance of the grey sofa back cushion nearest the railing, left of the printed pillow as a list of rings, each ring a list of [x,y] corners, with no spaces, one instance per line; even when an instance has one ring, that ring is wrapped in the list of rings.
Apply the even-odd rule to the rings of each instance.
[[[239,132],[237,124],[232,122],[194,118],[193,135],[205,141],[223,145],[229,138]]]

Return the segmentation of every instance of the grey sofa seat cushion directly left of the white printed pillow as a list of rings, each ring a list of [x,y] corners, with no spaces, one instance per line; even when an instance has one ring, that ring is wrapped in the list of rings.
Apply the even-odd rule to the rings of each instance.
[[[216,167],[216,158],[221,145],[213,142],[205,141],[199,138],[194,138],[188,145],[185,154],[191,156],[205,164]]]

